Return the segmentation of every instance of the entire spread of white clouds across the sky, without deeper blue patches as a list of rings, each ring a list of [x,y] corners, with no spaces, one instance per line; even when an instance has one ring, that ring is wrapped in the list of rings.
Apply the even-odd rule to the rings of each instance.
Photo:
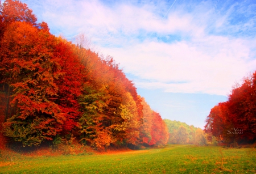
[[[138,87],[226,95],[236,80],[256,67],[255,37],[234,35],[239,28],[250,32],[255,19],[234,25],[229,22],[239,5],[223,12],[224,7],[217,9],[206,1],[187,10],[189,5],[177,1],[163,19],[170,6],[167,3],[105,5],[100,1],[48,0],[43,3],[41,18],[68,38],[84,32],[126,73],[138,77],[134,79]],[[167,39],[178,35],[181,40],[164,43],[150,38],[153,33]]]

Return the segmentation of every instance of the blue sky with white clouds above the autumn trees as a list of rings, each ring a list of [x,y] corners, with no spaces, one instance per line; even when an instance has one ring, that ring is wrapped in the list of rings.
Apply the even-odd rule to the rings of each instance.
[[[255,1],[22,0],[51,33],[119,63],[163,118],[203,128],[256,67]]]

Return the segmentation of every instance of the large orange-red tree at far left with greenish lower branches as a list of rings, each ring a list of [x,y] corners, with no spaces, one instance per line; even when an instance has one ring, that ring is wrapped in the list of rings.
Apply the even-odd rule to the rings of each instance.
[[[24,146],[52,139],[64,121],[54,103],[58,91],[54,81],[60,75],[52,58],[54,45],[48,31],[26,22],[11,23],[1,41],[3,83],[13,91],[13,111],[6,109],[10,118],[5,123],[5,135]]]

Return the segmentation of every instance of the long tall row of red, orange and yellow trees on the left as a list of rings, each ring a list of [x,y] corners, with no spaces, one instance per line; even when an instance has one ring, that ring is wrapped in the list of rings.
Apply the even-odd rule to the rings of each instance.
[[[97,149],[167,143],[165,122],[112,57],[85,49],[82,35],[72,44],[36,21],[20,1],[0,7],[6,137],[32,146],[73,136]]]

